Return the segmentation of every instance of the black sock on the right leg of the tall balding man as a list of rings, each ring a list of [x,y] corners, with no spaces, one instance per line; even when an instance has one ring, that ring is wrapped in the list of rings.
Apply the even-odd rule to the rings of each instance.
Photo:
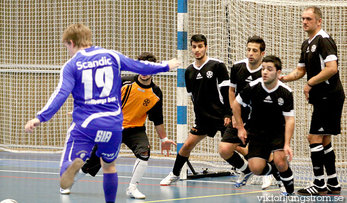
[[[337,186],[339,182],[336,177],[335,152],[331,143],[324,147],[324,167],[328,176],[327,183],[332,186]]]

